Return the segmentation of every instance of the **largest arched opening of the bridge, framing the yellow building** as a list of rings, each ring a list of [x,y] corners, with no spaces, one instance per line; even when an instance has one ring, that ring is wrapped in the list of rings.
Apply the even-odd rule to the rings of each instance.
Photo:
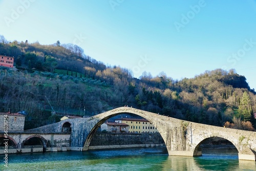
[[[154,134],[148,134],[150,132]],[[84,143],[83,151],[96,149],[96,146],[119,145],[125,148],[129,145],[139,147],[139,144],[144,144],[145,147],[165,147],[157,127],[150,121],[136,114],[119,113],[101,119],[93,127]],[[167,149],[165,152],[167,154]]]

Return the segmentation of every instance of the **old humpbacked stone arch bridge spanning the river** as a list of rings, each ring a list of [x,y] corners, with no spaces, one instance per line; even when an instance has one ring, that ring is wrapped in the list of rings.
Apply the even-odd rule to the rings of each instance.
[[[236,146],[239,160],[256,161],[256,132],[189,122],[129,107],[116,108],[90,118],[66,119],[28,130],[26,134],[36,132],[61,134],[63,130],[64,132],[68,130],[70,131],[70,150],[87,151],[98,127],[107,119],[124,113],[135,114],[150,121],[162,136],[169,155],[200,156],[202,153],[199,146],[204,140],[220,137]],[[44,137],[44,135],[41,136]],[[54,139],[47,141],[52,145]]]

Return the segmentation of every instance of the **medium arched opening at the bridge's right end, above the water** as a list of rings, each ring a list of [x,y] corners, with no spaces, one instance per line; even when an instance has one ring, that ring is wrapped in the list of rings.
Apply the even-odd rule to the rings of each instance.
[[[238,149],[232,142],[221,137],[209,137],[201,141],[195,148],[194,156],[237,156]]]

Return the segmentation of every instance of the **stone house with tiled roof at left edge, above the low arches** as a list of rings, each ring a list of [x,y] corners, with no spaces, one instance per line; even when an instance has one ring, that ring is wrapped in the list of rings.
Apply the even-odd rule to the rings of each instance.
[[[8,119],[5,119],[8,118]],[[8,131],[24,131],[25,115],[20,113],[4,113],[0,112],[0,120],[2,121],[0,131],[4,131],[5,124],[8,127]],[[8,122],[4,122],[7,120]]]

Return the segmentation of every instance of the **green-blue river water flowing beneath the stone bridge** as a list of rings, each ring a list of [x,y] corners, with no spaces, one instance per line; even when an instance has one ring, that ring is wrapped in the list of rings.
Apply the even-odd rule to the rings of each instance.
[[[239,161],[232,148],[203,149],[200,157],[168,156],[165,147],[13,154],[8,162],[0,170],[256,170],[256,162]]]

